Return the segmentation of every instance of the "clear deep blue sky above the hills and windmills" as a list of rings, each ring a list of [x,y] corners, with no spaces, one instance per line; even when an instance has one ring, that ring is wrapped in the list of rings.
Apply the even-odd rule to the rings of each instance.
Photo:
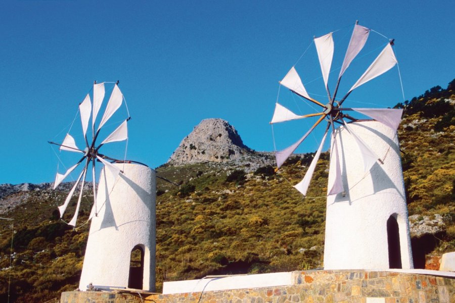
[[[455,70],[454,8],[452,1],[2,1],[0,184],[54,180],[58,160],[47,141],[63,139],[94,80],[120,80],[132,117],[128,159],[165,163],[206,118],[228,120],[253,149],[274,150],[268,122],[278,81],[313,36],[341,29],[342,58],[345,46],[337,45],[347,43],[355,20],[395,38],[405,99],[445,88]],[[312,44],[296,69],[309,87],[323,87],[314,56]],[[402,102],[397,68],[389,73],[344,105]],[[277,147],[298,139],[305,123],[274,128]],[[317,140],[299,151],[314,151]]]

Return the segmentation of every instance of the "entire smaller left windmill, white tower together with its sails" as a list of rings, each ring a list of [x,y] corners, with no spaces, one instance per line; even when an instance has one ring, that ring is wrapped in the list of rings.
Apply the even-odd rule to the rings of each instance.
[[[146,165],[116,160],[100,153],[100,148],[111,142],[127,141],[127,121],[112,131],[103,141],[97,142],[103,127],[124,104],[124,97],[118,87],[113,85],[111,96],[105,106],[105,112],[97,124],[98,112],[103,106],[105,83],[93,86],[93,92],[87,93],[79,105],[82,122],[82,136],[85,147],[79,148],[69,133],[63,143],[50,142],[60,146],[60,150],[81,154],[75,165],[64,174],[57,173],[54,189],[76,168],[83,164],[74,186],[59,207],[60,217],[70,203],[77,186],[80,192],[73,218],[68,223],[76,226],[79,207],[82,199],[85,176],[92,166],[94,203],[88,220],[92,220],[85,250],[79,289],[87,289],[92,283],[95,287],[120,287],[155,290],[155,243],[156,243],[156,180],[155,171]],[[113,83],[113,82],[112,82]],[[93,99],[93,105],[90,100]],[[127,109],[126,109],[127,112]],[[92,116],[92,134],[87,128]],[[83,139],[82,139],[83,138]],[[126,152],[125,152],[126,154]],[[101,162],[98,190],[96,190],[96,163]]]

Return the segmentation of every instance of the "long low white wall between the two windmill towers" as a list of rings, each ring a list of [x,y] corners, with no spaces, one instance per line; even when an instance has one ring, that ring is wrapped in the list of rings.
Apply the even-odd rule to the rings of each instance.
[[[291,284],[292,272],[229,276],[200,280],[164,282],[163,294],[285,286]]]

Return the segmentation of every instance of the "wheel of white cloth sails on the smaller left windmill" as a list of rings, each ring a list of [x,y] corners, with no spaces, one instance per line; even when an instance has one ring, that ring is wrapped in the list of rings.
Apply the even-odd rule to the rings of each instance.
[[[77,178],[76,182],[74,183],[73,187],[71,188],[70,192],[68,193],[65,202],[63,205],[59,206],[59,212],[60,212],[60,218],[63,218],[63,214],[66,211],[66,208],[68,207],[68,204],[74,194],[74,191],[76,190],[76,187],[80,185],[80,192],[79,192],[79,198],[77,200],[77,206],[76,206],[76,211],[74,213],[74,216],[68,222],[69,225],[76,226],[76,221],[77,221],[77,216],[79,213],[79,207],[82,199],[82,192],[83,192],[83,187],[84,187],[84,182],[85,182],[85,177],[87,175],[87,172],[92,170],[92,178],[93,178],[93,198],[94,198],[94,203],[93,203],[93,208],[92,211],[90,212],[89,219],[92,219],[92,217],[98,214],[98,206],[97,206],[97,194],[96,194],[96,163],[101,162],[104,167],[106,167],[109,172],[113,176],[117,176],[120,173],[120,168],[113,165],[109,161],[114,161],[114,162],[120,162],[117,159],[108,157],[106,155],[101,154],[100,149],[103,145],[111,142],[116,142],[116,141],[124,141],[128,139],[128,129],[127,129],[127,121],[130,120],[130,117],[128,115],[127,118],[110,134],[108,135],[103,141],[98,143],[98,137],[100,134],[100,131],[102,128],[106,125],[106,122],[109,121],[109,119],[115,114],[115,112],[120,108],[122,103],[124,103],[124,98],[123,94],[120,91],[120,88],[118,87],[118,81],[115,83],[111,96],[109,97],[108,103],[106,105],[105,112],[101,118],[101,121],[98,123],[96,127],[96,120],[98,117],[98,113],[102,107],[103,100],[105,97],[105,82],[103,83],[94,83],[93,85],[93,105],[90,100],[90,94],[87,93],[83,101],[79,104],[79,113],[80,113],[80,120],[82,124],[82,135],[84,139],[84,147],[79,148],[76,145],[76,142],[74,140],[74,137],[70,135],[69,133],[66,134],[64,140],[62,143],[56,143],[49,141],[51,144],[55,144],[60,146],[59,149],[61,151],[70,151],[72,153],[78,153],[81,154],[81,158],[79,161],[77,161],[76,164],[68,168],[63,174],[60,174],[57,172],[57,175],[55,177],[55,182],[54,182],[54,189],[56,189],[64,180],[65,178],[70,175],[76,168],[80,165],[83,166],[82,171],[79,174],[79,177]],[[125,103],[126,105],[126,103]],[[92,117],[92,135],[90,137],[90,132],[87,134],[87,129],[89,126],[90,122],[90,116]],[[90,140],[89,140],[90,139]]]

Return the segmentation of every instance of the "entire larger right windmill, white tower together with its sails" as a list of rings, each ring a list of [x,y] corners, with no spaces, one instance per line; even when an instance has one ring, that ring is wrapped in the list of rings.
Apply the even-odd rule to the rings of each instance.
[[[334,54],[332,33],[314,38],[329,103],[312,98],[294,67],[280,81],[294,94],[319,107],[317,113],[296,115],[276,104],[271,124],[319,117],[297,142],[276,153],[278,168],[317,125],[327,121],[324,137],[303,180],[294,187],[306,195],[329,130],[330,170],[327,191],[325,269],[413,268],[399,143],[396,130],[401,109],[343,108],[351,92],[397,64],[388,40],[367,70],[338,99],[344,72],[366,44],[370,29],[354,25],[333,95],[328,86]],[[345,112],[357,112],[373,120],[359,120]],[[335,128],[336,124],[340,127]]]

